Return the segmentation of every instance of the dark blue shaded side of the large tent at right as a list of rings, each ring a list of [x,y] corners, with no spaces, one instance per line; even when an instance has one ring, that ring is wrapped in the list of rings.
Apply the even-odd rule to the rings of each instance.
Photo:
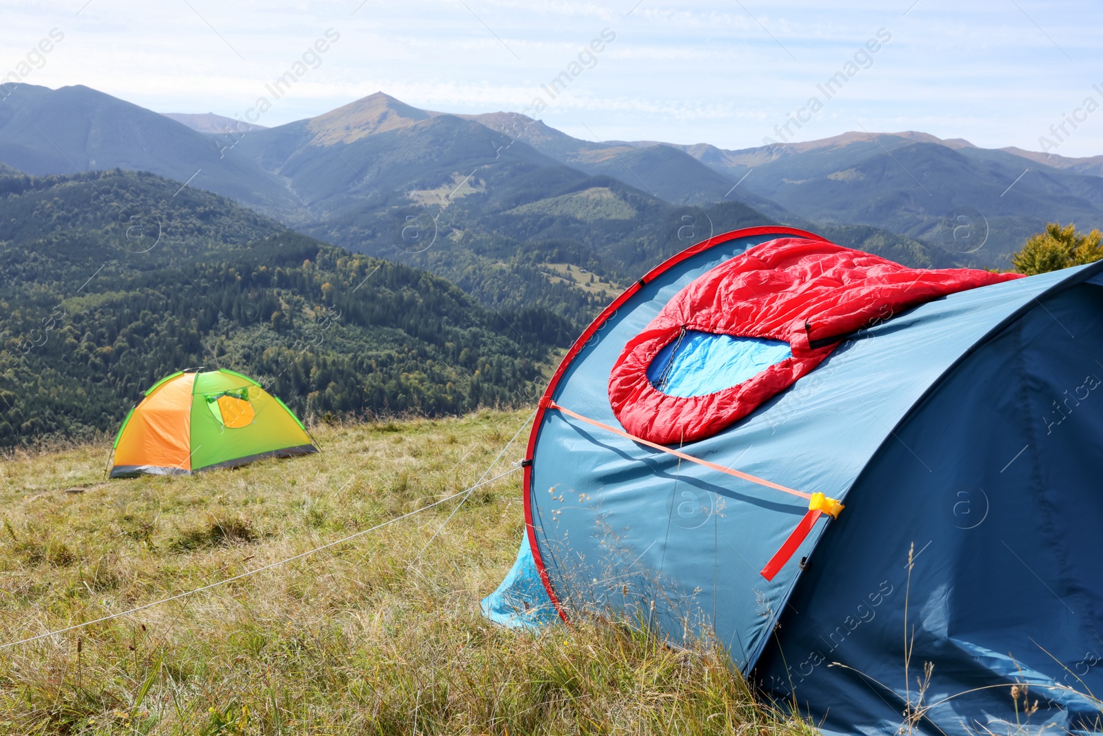
[[[904,698],[920,705],[925,662],[920,733],[1099,732],[1100,703],[1072,691],[1103,694],[1101,361],[1094,285],[1045,299],[978,345],[852,487],[756,676],[826,713],[836,733],[895,732]],[[1016,682],[1039,703],[1021,732]],[[975,687],[988,690],[959,695]]]

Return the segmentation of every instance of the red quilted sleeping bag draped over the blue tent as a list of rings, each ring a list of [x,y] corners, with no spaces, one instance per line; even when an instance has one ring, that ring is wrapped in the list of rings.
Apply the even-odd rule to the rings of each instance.
[[[848,334],[947,294],[1020,278],[965,268],[915,269],[829,243],[783,237],[694,279],[630,341],[609,401],[636,437],[673,445],[714,435],[816,367]],[[792,358],[703,396],[671,396],[647,366],[683,330],[783,340]]]

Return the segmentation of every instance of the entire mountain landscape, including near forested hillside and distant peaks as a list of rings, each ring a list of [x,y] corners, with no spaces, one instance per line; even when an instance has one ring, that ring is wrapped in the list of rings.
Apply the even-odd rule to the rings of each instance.
[[[1002,266],[1048,221],[1097,224],[1101,167],[915,132],[595,142],[382,93],[264,128],[14,85],[0,445],[107,430],[199,363],[314,416],[528,401],[624,285],[711,235],[784,223],[914,267]]]

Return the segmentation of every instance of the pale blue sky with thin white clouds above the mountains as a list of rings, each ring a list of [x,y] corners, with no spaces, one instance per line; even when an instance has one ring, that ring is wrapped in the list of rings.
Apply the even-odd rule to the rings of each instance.
[[[847,130],[922,130],[984,147],[1063,156],[1103,153],[1103,4],[981,0],[770,3],[654,0],[350,0],[291,3],[165,0],[6,2],[0,76],[19,68],[52,29],[64,40],[33,56],[25,81],[85,84],[159,111],[227,116],[317,39],[319,54],[260,122],[318,115],[384,90],[418,107],[456,113],[524,110],[579,138],[762,145],[801,113],[790,140]],[[633,7],[634,6],[634,7]],[[579,53],[602,31],[600,54]],[[890,40],[860,55],[878,31]],[[599,44],[600,45],[600,44]],[[831,99],[817,89],[859,54]],[[589,68],[588,68],[589,67]],[[26,67],[23,67],[26,68]],[[579,71],[580,70],[580,71]],[[542,85],[578,72],[552,99]],[[1058,141],[1050,126],[1065,114]]]

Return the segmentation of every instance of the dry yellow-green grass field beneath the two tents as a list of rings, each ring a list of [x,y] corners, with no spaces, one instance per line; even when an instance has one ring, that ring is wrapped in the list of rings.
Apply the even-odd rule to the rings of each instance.
[[[0,644],[225,579],[474,482],[527,412],[319,427],[322,455],[101,481],[105,447],[0,462]],[[520,440],[524,440],[524,434]],[[521,457],[518,440],[496,468]],[[721,654],[479,614],[520,474],[210,591],[0,650],[2,734],[811,733]]]

